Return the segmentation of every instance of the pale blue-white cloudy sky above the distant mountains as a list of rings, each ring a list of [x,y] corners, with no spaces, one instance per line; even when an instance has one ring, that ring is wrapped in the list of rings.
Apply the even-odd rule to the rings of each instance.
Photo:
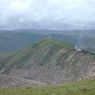
[[[0,0],[0,29],[95,29],[95,0]]]

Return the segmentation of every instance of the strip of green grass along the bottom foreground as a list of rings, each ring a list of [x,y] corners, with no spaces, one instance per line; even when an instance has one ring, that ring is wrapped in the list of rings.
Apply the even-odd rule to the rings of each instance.
[[[95,95],[95,80],[61,86],[0,89],[0,95]]]

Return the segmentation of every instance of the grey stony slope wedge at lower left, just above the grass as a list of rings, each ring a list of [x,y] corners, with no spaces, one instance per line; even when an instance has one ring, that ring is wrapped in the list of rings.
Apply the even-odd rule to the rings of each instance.
[[[45,86],[44,82],[0,74],[0,88]]]

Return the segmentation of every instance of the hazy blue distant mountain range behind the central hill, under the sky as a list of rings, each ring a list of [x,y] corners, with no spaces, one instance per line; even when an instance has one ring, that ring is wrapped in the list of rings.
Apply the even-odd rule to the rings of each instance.
[[[95,49],[94,30],[1,30],[0,55],[15,52],[47,37],[56,38],[77,45],[80,48],[86,48],[92,51]]]

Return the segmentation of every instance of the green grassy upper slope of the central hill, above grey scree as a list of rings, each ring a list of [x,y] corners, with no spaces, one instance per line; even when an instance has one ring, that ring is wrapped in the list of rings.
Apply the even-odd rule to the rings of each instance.
[[[63,56],[60,52],[63,48],[64,51],[66,49],[66,56],[74,51],[73,46],[70,44],[46,38],[35,43],[33,46],[30,45],[29,47],[21,49],[6,58],[1,58],[0,69],[6,68],[5,72],[13,68],[29,69],[31,66],[35,65],[34,63],[29,65],[27,63],[29,60],[33,60],[36,65],[43,66],[56,59],[58,60],[60,56]],[[57,55],[57,53],[60,53],[60,55]],[[53,60],[51,58],[53,58]]]

